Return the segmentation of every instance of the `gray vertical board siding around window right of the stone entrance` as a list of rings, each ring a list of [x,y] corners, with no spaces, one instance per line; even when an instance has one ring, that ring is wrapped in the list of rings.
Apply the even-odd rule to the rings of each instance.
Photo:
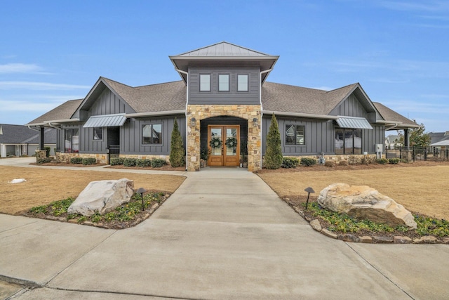
[[[281,133],[281,149],[284,156],[325,155],[335,153],[334,126],[332,121],[319,119],[283,118],[276,116],[279,133]],[[267,148],[267,134],[271,124],[271,116],[262,119],[262,155]],[[305,145],[286,145],[286,125],[302,125],[305,130]]]

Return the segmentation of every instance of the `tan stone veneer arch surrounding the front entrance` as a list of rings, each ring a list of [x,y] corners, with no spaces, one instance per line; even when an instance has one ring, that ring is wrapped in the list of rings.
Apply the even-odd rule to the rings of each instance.
[[[200,121],[218,116],[248,120],[248,171],[262,169],[260,105],[187,105],[187,171],[200,169]],[[192,118],[196,119],[194,127]],[[257,126],[253,126],[254,118],[257,118]]]

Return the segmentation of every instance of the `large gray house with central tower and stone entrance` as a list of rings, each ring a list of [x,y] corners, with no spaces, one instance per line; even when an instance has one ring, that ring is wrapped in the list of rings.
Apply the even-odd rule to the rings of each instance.
[[[227,42],[169,56],[180,81],[128,86],[100,77],[87,96],[29,122],[44,134],[57,127],[62,155],[167,159],[175,119],[186,148],[187,170],[199,171],[201,150],[209,166],[238,166],[248,151],[248,171],[262,168],[272,115],[284,156],[331,159],[374,155],[388,129],[418,125],[370,100],[361,85],[333,91],[267,81],[279,56]]]

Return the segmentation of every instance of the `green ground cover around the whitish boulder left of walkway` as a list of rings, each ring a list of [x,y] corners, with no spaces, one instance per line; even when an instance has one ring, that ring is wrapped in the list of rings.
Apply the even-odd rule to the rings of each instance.
[[[149,193],[144,195],[144,209],[148,209],[154,203],[161,203],[162,197],[165,195],[164,193]],[[107,214],[100,215],[98,213],[93,214],[93,216],[81,216],[79,214],[67,214],[67,209],[70,204],[74,202],[73,197],[68,197],[64,200],[59,200],[55,202],[51,202],[47,205],[42,205],[39,207],[33,207],[29,209],[29,214],[37,215],[37,214],[46,214],[47,216],[65,216],[67,220],[76,219],[79,223],[83,221],[91,221],[93,223],[110,223],[110,222],[125,222],[125,221],[133,221],[137,219],[138,214],[142,212],[142,197],[140,194],[134,194],[131,197],[130,202],[121,205],[120,207],[116,207],[114,211],[109,211]]]

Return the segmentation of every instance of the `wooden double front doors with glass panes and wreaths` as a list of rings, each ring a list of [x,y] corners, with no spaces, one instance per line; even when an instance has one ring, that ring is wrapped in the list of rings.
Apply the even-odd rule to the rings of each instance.
[[[210,167],[236,167],[240,162],[240,126],[208,125]]]

